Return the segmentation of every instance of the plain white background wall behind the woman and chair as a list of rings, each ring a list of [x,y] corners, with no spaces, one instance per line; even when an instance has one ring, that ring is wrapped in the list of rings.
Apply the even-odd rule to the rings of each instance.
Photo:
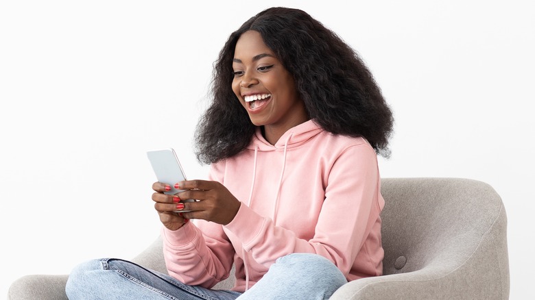
[[[213,62],[268,5],[309,12],[364,58],[396,119],[383,177],[499,192],[511,299],[535,299],[535,8],[510,0],[1,1],[0,295],[158,236],[145,151],[174,147],[206,177],[191,145]]]

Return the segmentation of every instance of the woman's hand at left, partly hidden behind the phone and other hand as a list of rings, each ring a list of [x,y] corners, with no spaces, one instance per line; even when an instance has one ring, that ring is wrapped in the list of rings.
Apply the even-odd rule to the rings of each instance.
[[[167,187],[167,188],[166,188]],[[163,184],[161,182],[154,182],[152,184],[152,189],[155,191],[152,194],[152,200],[154,203],[154,208],[158,215],[160,216],[160,222],[163,223],[165,227],[169,230],[178,230],[189,220],[183,218],[177,210],[183,208],[178,208],[177,205],[182,205],[180,199],[175,195],[166,195],[163,192],[171,190],[169,184]]]

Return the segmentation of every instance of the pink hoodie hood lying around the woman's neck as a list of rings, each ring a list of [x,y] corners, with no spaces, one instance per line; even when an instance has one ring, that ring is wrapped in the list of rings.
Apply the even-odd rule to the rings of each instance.
[[[275,145],[271,145],[270,142],[265,140],[265,138],[262,136],[261,127],[257,127],[257,130],[254,132],[254,136],[252,136],[252,140],[247,149],[258,149],[258,151],[275,151],[277,149],[285,148],[292,149],[304,144],[307,142],[307,140],[313,136],[316,136],[323,130],[324,129],[322,129],[322,127],[316,124],[313,120],[309,120],[305,123],[301,123],[288,129],[287,132],[285,132],[285,134],[278,139]]]

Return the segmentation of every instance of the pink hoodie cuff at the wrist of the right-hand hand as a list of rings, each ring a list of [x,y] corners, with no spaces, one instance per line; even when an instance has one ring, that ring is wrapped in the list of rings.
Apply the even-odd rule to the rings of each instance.
[[[250,251],[262,238],[269,221],[268,218],[260,216],[247,205],[241,203],[233,221],[230,221],[224,227],[241,240],[243,249]]]

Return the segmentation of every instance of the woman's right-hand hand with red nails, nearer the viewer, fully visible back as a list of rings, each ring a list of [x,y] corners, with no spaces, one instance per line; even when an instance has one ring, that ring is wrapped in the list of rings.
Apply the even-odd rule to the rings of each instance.
[[[201,218],[206,221],[227,225],[233,221],[238,213],[241,202],[219,182],[206,180],[189,180],[178,182],[179,190],[185,190],[176,194],[180,199],[195,199],[195,202],[183,202],[185,218]]]

